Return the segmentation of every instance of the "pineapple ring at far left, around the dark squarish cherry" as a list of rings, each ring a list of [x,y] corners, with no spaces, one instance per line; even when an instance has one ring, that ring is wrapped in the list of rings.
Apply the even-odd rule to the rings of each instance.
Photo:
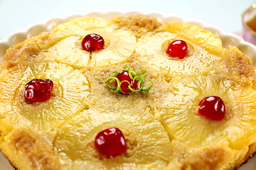
[[[53,81],[53,91],[47,101],[26,101],[25,85],[31,79]],[[1,73],[0,84],[0,125],[6,134],[10,127],[20,126],[52,130],[87,108],[86,101],[90,93],[87,78],[82,72],[64,64],[50,62],[5,70]]]

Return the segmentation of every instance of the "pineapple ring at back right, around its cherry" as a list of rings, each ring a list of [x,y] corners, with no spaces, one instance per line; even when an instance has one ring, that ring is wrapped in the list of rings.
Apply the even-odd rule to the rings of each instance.
[[[170,57],[166,54],[168,47],[166,42],[178,39],[183,38],[169,32],[147,33],[139,38],[137,42],[137,60],[145,64],[146,67],[159,71],[167,77],[202,75],[213,72],[217,67],[220,69],[222,57],[210,54],[203,47],[186,38],[183,40],[188,43],[189,56],[185,56],[183,59]]]

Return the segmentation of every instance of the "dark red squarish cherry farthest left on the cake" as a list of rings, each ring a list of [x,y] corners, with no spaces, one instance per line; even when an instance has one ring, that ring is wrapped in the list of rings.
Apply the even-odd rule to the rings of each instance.
[[[53,90],[53,81],[50,79],[33,79],[25,86],[24,97],[27,101],[47,101]]]

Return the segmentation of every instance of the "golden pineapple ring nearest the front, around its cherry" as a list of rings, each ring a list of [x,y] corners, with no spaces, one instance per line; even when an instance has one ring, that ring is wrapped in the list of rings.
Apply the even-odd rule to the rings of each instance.
[[[124,154],[107,158],[97,152],[95,137],[107,128],[122,130],[127,142]],[[60,128],[54,147],[66,169],[163,169],[174,159],[164,128],[148,111],[137,109],[84,111]]]

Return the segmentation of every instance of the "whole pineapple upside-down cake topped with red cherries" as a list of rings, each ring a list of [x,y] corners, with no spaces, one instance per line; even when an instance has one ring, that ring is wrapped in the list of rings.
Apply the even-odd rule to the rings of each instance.
[[[255,68],[183,22],[83,17],[7,50],[0,148],[16,169],[237,169]]]

